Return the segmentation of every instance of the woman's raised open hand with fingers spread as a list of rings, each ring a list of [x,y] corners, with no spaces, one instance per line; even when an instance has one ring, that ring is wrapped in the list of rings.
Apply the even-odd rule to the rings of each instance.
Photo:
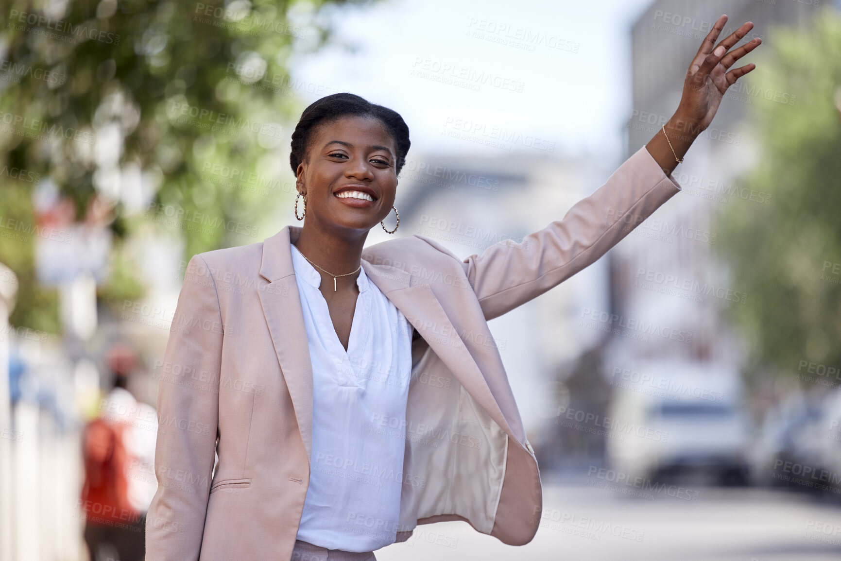
[[[699,131],[706,130],[710,126],[727,88],[733,86],[740,77],[756,67],[751,63],[728,71],[730,66],[762,43],[761,39],[756,38],[733,52],[727,52],[748,34],[748,31],[754,29],[754,24],[747,22],[713,48],[718,34],[722,32],[726,23],[727,16],[722,15],[712,26],[710,33],[706,35],[706,39],[701,43],[695,58],[690,63],[689,70],[686,71],[683,95],[676,114]]]

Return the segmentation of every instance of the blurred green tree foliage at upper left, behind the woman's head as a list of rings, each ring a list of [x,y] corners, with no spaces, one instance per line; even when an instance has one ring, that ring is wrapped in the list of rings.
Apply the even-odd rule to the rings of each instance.
[[[299,93],[290,56],[331,40],[331,10],[364,0],[17,1],[0,13],[0,262],[19,276],[13,325],[59,331],[40,285],[39,200],[112,234],[98,298],[143,294],[126,251],[168,232],[184,256],[262,240],[290,197],[278,145]],[[271,204],[270,204],[271,203]],[[68,213],[65,213],[68,214]]]

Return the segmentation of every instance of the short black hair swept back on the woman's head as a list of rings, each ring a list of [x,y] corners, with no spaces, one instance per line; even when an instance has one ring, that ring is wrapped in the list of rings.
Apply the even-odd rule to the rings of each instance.
[[[289,154],[289,164],[292,166],[293,173],[298,173],[298,166],[307,155],[310,136],[315,127],[348,115],[373,117],[383,124],[397,147],[394,167],[399,175],[406,161],[406,153],[409,152],[412,144],[409,140],[409,127],[403,117],[400,117],[400,114],[393,109],[371,103],[353,93],[334,93],[320,98],[304,109],[292,133],[292,153]]]

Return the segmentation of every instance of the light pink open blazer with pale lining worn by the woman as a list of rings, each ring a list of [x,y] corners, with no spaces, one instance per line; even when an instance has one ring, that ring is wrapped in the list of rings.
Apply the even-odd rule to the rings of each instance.
[[[679,190],[643,147],[520,244],[463,261],[423,236],[365,248],[365,273],[420,335],[398,541],[451,520],[532,540],[540,475],[487,321],[595,262]],[[325,461],[311,454],[313,378],[289,247],[299,233],[288,226],[188,264],[161,368],[147,561],[291,556],[310,469]],[[354,514],[347,525],[381,522]]]

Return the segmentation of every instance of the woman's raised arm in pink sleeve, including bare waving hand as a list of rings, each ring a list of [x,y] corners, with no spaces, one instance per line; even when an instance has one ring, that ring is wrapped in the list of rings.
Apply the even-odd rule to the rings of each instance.
[[[486,319],[525,304],[595,262],[680,191],[671,176],[677,159],[710,125],[727,87],[755,67],[727,71],[760,41],[727,52],[753,29],[748,22],[713,48],[726,22],[722,15],[690,63],[678,109],[664,125],[668,140],[660,130],[563,220],[526,236],[521,244],[496,243],[464,260]]]

